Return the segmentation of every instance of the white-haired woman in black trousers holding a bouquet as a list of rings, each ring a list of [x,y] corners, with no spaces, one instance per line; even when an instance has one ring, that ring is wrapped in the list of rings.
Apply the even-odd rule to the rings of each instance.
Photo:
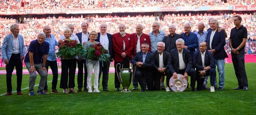
[[[79,42],[78,39],[76,39],[77,37],[71,37],[72,32],[71,29],[66,28],[64,30],[64,39],[59,39],[59,44],[61,44],[62,42],[64,42],[65,40],[76,40]],[[76,35],[72,35],[72,36],[76,36]],[[74,77],[76,74],[76,59],[72,58],[72,59],[66,59],[65,57],[61,58],[61,86],[60,88],[63,88],[64,91],[63,93],[77,93],[76,90],[74,90]],[[68,80],[69,78],[69,80]],[[67,85],[67,81],[68,81],[68,85]],[[69,88],[69,91],[67,91],[67,88]]]

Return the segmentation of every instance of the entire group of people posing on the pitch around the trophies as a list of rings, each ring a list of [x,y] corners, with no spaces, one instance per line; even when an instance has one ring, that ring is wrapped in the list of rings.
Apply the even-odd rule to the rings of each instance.
[[[229,46],[232,49],[232,61],[235,74],[238,80],[238,87],[235,90],[248,90],[247,76],[244,66],[244,47],[247,41],[247,29],[241,25],[242,18],[239,15],[234,16],[235,27],[231,30]],[[152,24],[152,32],[143,33],[144,26],[138,24],[136,32],[126,33],[126,25],[119,24],[119,32],[115,34],[107,33],[107,24],[100,25],[100,32],[95,30],[88,32],[88,24],[81,24],[82,32],[73,34],[74,25],[69,24],[64,29],[63,35],[57,41],[51,34],[50,26],[43,27],[43,32],[37,36],[36,40],[31,41],[28,53],[25,56],[25,47],[23,37],[19,34],[19,25],[13,24],[10,27],[11,34],[5,36],[2,46],[3,61],[6,66],[7,93],[12,95],[11,76],[14,67],[17,71],[17,95],[21,93],[22,81],[22,62],[25,60],[29,71],[29,95],[35,95],[34,85],[37,71],[41,77],[37,89],[38,95],[49,94],[47,86],[48,67],[52,69],[53,82],[52,93],[60,93],[56,89],[58,79],[57,61],[55,57],[55,46],[58,46],[63,40],[76,40],[84,47],[90,47],[91,44],[100,43],[109,51],[112,61],[114,61],[115,88],[120,90],[121,83],[118,80],[117,72],[120,68],[129,68],[130,63],[137,69],[133,79],[133,90],[160,90],[171,91],[169,80],[171,76],[177,78],[177,74],[182,74],[185,79],[190,76],[190,88],[192,91],[208,89],[208,76],[210,76],[209,88],[214,92],[217,88],[216,66],[219,73],[218,90],[223,90],[225,86],[224,59],[227,58],[224,46],[227,34],[223,27],[219,27],[217,19],[209,18],[210,28],[204,31],[204,24],[198,24],[198,31],[191,32],[191,24],[183,25],[184,33],[176,34],[176,26],[170,25],[169,32],[166,34],[160,30],[159,22]],[[61,58],[61,86],[63,93],[77,93],[88,91],[89,93],[99,93],[99,81],[102,75],[103,91],[108,91],[109,66],[110,62],[99,62],[86,59],[83,56],[67,59]],[[78,91],[75,87],[75,69],[78,65]],[[92,87],[92,70],[95,77]],[[83,77],[83,72],[85,76]],[[164,86],[164,76],[166,76],[166,87]],[[197,88],[195,82],[197,81]],[[189,85],[188,85],[189,87]]]

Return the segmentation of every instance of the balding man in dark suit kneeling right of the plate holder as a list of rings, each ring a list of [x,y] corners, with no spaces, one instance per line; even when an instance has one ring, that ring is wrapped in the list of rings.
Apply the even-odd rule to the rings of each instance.
[[[211,92],[214,92],[214,81],[216,79],[216,70],[215,63],[213,59],[213,54],[207,49],[207,43],[201,42],[199,44],[199,50],[194,52],[193,64],[196,68],[197,75],[197,90],[204,90],[204,78],[205,76],[209,76],[211,78]]]

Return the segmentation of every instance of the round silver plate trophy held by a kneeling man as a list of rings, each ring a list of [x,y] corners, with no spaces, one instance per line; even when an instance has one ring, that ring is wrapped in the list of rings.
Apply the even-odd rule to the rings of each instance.
[[[171,76],[169,85],[174,92],[182,92],[187,88],[188,81],[182,74],[177,74],[177,79],[173,79],[173,76]]]

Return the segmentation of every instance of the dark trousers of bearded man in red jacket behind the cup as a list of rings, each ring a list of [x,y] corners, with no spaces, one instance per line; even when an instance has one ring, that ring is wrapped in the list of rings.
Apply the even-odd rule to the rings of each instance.
[[[116,65],[117,65],[118,63],[121,64],[121,67],[118,65],[117,68],[116,68]],[[114,62],[114,68],[115,68],[115,88],[120,88],[120,85],[121,85],[120,81],[118,80],[117,73],[116,73],[116,71],[117,71],[118,73],[120,72],[119,67],[120,67],[120,68],[130,68],[130,58],[128,58],[128,57],[126,56],[126,58],[123,58],[123,62],[117,62],[117,61]]]

